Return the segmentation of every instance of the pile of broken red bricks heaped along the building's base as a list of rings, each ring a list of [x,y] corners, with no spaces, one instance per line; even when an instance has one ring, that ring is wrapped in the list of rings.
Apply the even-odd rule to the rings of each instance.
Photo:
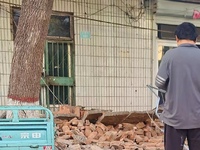
[[[66,111],[68,109],[68,111]],[[65,112],[63,112],[65,110]],[[76,112],[75,112],[76,110]],[[93,113],[90,113],[93,112]],[[163,124],[158,119],[119,123],[118,115],[109,115],[109,124],[103,116],[111,114],[107,111],[83,110],[65,106],[55,113],[56,147],[59,150],[163,150]],[[97,115],[101,112],[101,115]],[[65,113],[65,114],[64,114]],[[113,112],[116,114],[116,112]],[[76,117],[73,115],[76,114]],[[78,116],[77,116],[78,114]],[[80,115],[79,115],[80,114]],[[89,114],[93,114],[93,117]],[[119,117],[121,113],[119,113]],[[129,113],[130,114],[130,113]],[[136,113],[137,114],[137,113]],[[146,114],[145,114],[146,115]],[[97,117],[98,116],[98,117]],[[129,115],[130,116],[130,115]],[[95,117],[96,120],[95,120]],[[117,124],[114,122],[116,119]],[[111,122],[113,120],[113,124]],[[104,123],[102,123],[102,122]]]

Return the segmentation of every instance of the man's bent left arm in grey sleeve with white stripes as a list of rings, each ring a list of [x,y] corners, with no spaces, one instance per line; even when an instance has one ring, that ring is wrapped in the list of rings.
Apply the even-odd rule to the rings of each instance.
[[[167,53],[163,56],[158,73],[156,75],[155,85],[160,89],[166,89],[169,80],[169,59]]]

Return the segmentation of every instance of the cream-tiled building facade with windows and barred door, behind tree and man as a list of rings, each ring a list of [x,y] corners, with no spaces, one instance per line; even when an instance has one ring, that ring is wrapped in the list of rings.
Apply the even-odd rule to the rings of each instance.
[[[0,2],[1,105],[7,102],[20,4]],[[154,85],[164,51],[176,46],[171,29],[183,21],[200,26],[192,19],[194,8],[200,10],[199,4],[168,0],[54,0],[40,103],[152,109],[155,97],[146,85]]]

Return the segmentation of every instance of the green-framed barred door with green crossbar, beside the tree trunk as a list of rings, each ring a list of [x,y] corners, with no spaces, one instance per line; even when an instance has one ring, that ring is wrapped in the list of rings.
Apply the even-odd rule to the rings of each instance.
[[[44,74],[41,84],[45,87],[42,105],[75,104],[74,53],[68,42],[47,41],[44,53]]]

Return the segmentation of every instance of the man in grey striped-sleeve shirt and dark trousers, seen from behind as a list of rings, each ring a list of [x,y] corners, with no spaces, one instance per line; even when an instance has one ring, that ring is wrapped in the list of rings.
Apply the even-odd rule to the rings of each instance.
[[[161,120],[165,123],[165,150],[182,150],[187,138],[190,150],[200,150],[200,49],[196,27],[180,24],[178,47],[163,56],[156,86],[166,90]]]

